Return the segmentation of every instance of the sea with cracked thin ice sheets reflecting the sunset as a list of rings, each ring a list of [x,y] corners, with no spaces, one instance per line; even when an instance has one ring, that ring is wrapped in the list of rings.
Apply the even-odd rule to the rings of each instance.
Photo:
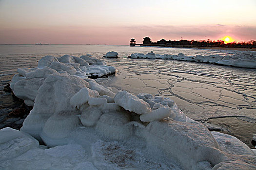
[[[108,51],[118,58],[105,58]],[[205,63],[163,59],[131,59],[135,52],[177,55],[233,55],[230,50],[190,48],[130,47],[120,45],[0,45],[0,128],[14,127],[8,114],[21,102],[3,91],[17,68],[37,67],[45,55],[91,54],[116,68],[116,74],[96,79],[114,92],[126,90],[134,95],[149,93],[174,100],[191,119],[216,125],[251,148],[256,134],[256,69],[217,66]],[[10,120],[12,119],[12,120]],[[10,123],[12,122],[12,123]],[[18,124],[18,123],[17,123]],[[19,129],[19,126],[14,127]]]

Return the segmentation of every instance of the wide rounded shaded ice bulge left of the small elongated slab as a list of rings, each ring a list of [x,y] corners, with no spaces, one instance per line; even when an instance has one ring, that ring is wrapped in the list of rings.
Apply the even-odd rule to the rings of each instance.
[[[98,120],[96,130],[110,139],[124,139],[132,134],[130,113],[126,111],[112,111],[104,113]]]

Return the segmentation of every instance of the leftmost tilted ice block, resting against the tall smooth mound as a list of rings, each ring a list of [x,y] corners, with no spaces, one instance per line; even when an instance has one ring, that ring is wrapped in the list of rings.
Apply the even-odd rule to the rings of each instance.
[[[89,85],[88,85],[89,86]],[[98,97],[98,91],[91,90],[87,87],[84,87],[79,90],[77,94],[71,97],[70,104],[73,106],[80,106],[86,102],[88,102],[89,98]]]

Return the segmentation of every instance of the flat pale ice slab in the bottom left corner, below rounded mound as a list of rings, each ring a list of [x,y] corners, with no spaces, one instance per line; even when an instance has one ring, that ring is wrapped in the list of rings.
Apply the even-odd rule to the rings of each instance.
[[[88,153],[80,144],[49,149],[35,148],[20,156],[2,161],[1,170],[98,170],[88,161]]]

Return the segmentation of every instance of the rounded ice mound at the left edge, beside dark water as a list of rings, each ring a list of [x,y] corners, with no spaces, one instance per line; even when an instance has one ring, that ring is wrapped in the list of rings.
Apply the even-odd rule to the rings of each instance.
[[[0,136],[0,163],[39,146],[32,136],[9,127],[1,129]]]

